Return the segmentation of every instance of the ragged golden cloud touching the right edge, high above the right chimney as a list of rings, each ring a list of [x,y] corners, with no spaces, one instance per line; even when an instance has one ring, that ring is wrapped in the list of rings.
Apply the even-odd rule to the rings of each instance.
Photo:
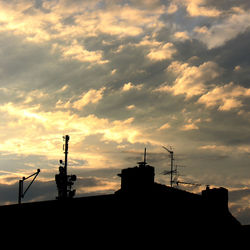
[[[218,107],[220,111],[229,111],[242,107],[241,98],[244,97],[250,97],[250,89],[230,82],[208,91],[199,98],[198,103],[202,103],[208,108]]]

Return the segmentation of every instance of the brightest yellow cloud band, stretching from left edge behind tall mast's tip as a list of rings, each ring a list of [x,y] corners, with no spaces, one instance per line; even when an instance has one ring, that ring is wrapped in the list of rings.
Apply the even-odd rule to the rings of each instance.
[[[77,135],[74,143],[93,134],[101,134],[102,140],[117,143],[123,140],[130,143],[141,141],[141,132],[132,126],[133,117],[124,121],[109,121],[93,114],[81,117],[70,111],[45,112],[39,110],[39,106],[22,107],[13,103],[0,106],[0,112],[6,117],[5,127],[8,128],[8,132],[1,135],[4,152],[54,157],[58,152],[54,140],[61,138],[66,130]]]

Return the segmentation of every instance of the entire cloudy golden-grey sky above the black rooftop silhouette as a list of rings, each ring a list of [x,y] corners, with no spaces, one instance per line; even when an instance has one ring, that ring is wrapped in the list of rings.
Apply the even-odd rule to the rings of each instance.
[[[250,2],[0,0],[0,205],[55,199],[69,141],[76,196],[113,193],[143,158],[169,185],[229,190],[250,224]]]

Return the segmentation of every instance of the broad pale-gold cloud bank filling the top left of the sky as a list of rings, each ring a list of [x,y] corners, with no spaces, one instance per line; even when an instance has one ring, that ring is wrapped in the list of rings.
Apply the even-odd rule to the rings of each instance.
[[[60,54],[64,60],[106,64],[109,61],[103,58],[101,49],[85,46],[87,38],[102,35],[121,39],[136,37],[147,29],[164,26],[160,20],[165,11],[164,5],[152,10],[115,2],[107,2],[105,5],[98,3],[43,1],[37,7],[35,3],[26,0],[18,4],[1,2],[0,32],[8,32],[25,42],[47,44],[52,54]],[[166,57],[166,47],[163,46],[161,50]],[[152,53],[152,57],[156,58],[155,53],[158,52]]]

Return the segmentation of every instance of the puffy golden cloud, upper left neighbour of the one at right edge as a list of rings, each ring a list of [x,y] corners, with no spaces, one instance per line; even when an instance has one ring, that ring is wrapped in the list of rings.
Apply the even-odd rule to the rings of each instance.
[[[212,61],[205,62],[198,67],[174,61],[168,66],[167,72],[176,77],[173,86],[162,85],[156,91],[170,92],[173,95],[184,94],[186,98],[205,93],[206,84],[211,84],[219,75],[218,66]]]

